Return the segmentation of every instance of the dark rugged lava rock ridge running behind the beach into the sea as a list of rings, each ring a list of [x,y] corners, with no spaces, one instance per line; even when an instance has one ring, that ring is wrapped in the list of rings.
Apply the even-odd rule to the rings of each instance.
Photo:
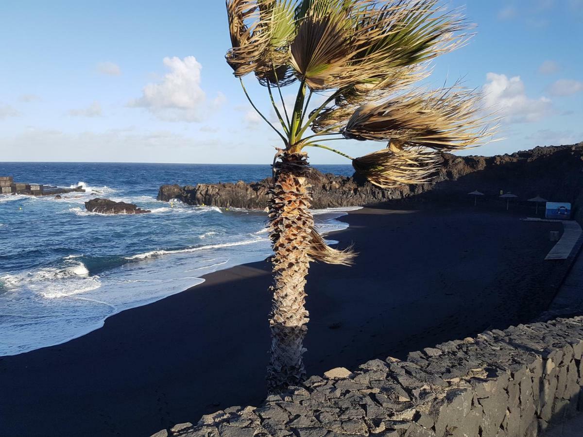
[[[381,189],[359,177],[342,177],[312,170],[314,208],[374,205],[388,200],[467,198],[475,189],[497,196],[512,192],[525,200],[537,195],[557,202],[574,202],[583,187],[583,143],[535,147],[510,155],[460,157],[444,154],[444,165],[431,184]],[[178,199],[189,205],[264,209],[271,178],[245,184],[163,185],[158,200]]]

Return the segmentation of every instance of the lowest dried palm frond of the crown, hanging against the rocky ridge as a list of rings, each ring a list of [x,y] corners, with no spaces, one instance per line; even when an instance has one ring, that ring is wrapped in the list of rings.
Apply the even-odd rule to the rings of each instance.
[[[388,147],[355,158],[352,166],[371,184],[381,188],[426,184],[436,176],[441,154],[423,147]]]

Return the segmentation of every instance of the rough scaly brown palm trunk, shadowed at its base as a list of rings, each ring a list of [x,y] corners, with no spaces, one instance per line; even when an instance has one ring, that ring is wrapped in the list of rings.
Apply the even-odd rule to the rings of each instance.
[[[273,292],[269,393],[279,393],[305,379],[303,341],[307,332],[305,276],[308,274],[311,230],[310,185],[305,181],[304,153],[284,152],[275,164],[269,199],[269,228],[273,243]]]

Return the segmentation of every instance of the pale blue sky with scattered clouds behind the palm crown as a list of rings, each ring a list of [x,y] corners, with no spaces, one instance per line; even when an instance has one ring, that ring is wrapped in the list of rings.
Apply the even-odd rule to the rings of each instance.
[[[506,139],[464,154],[582,141],[583,0],[448,4],[465,6],[477,34],[437,58],[428,82],[464,77],[504,115]],[[0,40],[0,160],[271,162],[277,138],[224,62],[222,0],[3,0]],[[246,82],[269,113],[265,89]],[[352,156],[382,147],[335,146]]]

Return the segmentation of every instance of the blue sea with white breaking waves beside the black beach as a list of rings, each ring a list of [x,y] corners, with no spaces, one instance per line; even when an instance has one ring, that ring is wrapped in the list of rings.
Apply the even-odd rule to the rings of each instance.
[[[316,166],[350,175],[350,165]],[[63,343],[124,309],[201,283],[203,274],[265,259],[260,211],[156,200],[162,184],[257,181],[269,165],[0,163],[17,182],[86,193],[0,195],[0,355]],[[151,214],[90,213],[96,197],[136,203]],[[315,211],[322,231],[346,227],[343,209]]]

